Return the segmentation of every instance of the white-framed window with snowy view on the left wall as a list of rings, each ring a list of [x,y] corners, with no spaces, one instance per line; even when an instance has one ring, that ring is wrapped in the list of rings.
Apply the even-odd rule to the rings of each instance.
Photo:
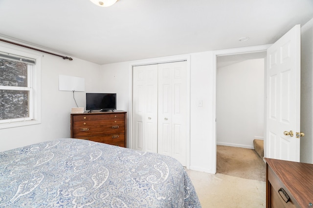
[[[38,124],[41,120],[41,59],[13,53],[0,51],[0,129]]]

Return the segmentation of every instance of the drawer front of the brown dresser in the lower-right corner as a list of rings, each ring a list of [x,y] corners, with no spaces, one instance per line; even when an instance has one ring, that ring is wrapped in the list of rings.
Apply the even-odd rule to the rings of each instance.
[[[296,206],[293,203],[295,202],[295,199],[271,168],[268,168],[268,181],[270,183],[269,194],[271,198],[270,200],[271,208],[296,208]],[[286,203],[284,199],[281,197],[281,195],[283,195],[283,192],[282,191],[279,192],[280,189],[283,189],[286,192],[286,194],[290,197],[290,201],[288,203]],[[285,200],[287,200],[287,198],[284,195],[283,197],[285,198]]]

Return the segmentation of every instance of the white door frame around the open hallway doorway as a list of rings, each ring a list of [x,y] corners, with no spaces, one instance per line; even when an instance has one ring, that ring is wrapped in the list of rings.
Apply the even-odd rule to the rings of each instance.
[[[213,170],[214,173],[216,173],[216,147],[217,147],[217,134],[216,134],[216,99],[217,99],[217,86],[216,86],[216,80],[217,80],[217,56],[221,56],[221,55],[231,55],[231,54],[241,54],[241,53],[251,53],[251,52],[261,52],[261,51],[267,51],[268,47],[271,46],[272,44],[266,44],[266,45],[257,45],[257,46],[249,46],[249,47],[242,47],[242,48],[232,48],[232,49],[225,49],[225,50],[217,50],[217,51],[213,51],[213,56],[212,56],[212,69],[213,69],[213,76],[215,77],[214,83],[212,83],[212,87],[213,87],[213,111],[214,111],[214,122],[212,122],[214,124],[214,127],[212,128],[214,131],[212,132],[212,146],[215,147],[215,152],[213,153],[213,159],[214,162],[213,167],[211,170]],[[266,67],[266,66],[265,66]],[[264,76],[266,77],[266,70],[265,70],[265,74]],[[264,80],[266,82],[266,79]],[[265,85],[265,104],[266,104],[266,85]],[[266,114],[267,109],[266,109],[266,105],[264,106],[264,114]],[[264,115],[265,118],[265,115]],[[266,120],[264,123],[264,133],[266,132]],[[264,153],[266,152],[266,134],[264,135]],[[264,154],[265,155],[265,154]]]

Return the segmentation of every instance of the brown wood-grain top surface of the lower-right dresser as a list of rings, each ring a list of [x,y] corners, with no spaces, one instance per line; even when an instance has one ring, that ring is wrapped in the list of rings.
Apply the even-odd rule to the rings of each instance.
[[[313,203],[313,164],[265,160],[301,207],[307,208],[309,203]]]

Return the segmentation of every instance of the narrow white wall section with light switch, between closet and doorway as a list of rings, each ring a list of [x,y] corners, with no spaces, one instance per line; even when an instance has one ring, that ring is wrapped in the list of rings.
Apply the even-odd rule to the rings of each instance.
[[[190,169],[215,173],[215,69],[213,52],[191,54]],[[202,100],[202,107],[198,107]]]

